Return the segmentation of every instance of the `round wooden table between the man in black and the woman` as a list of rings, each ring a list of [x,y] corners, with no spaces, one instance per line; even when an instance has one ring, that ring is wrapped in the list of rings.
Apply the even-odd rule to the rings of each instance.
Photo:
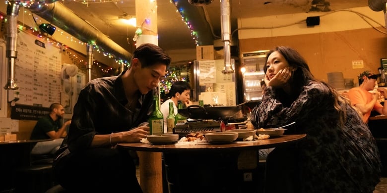
[[[202,189],[230,192],[239,191],[239,186],[243,185],[238,176],[238,159],[241,152],[291,145],[305,137],[306,134],[283,135],[253,142],[204,145],[122,143],[118,144],[118,148],[141,151],[141,153],[162,152],[170,193],[190,192],[190,187],[196,187],[197,192]],[[147,161],[149,160],[140,160],[140,164]],[[146,174],[140,173],[140,182],[145,182],[147,185],[147,187],[141,185],[144,193],[161,192],[162,188],[149,187],[156,185],[157,183],[154,182],[161,181],[161,179],[150,178]]]

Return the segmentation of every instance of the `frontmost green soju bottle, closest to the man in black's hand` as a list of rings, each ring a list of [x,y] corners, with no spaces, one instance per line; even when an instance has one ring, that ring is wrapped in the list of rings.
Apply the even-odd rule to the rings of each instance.
[[[164,134],[164,120],[163,113],[159,107],[159,97],[153,96],[153,112],[149,117],[149,133],[150,135],[161,135]]]

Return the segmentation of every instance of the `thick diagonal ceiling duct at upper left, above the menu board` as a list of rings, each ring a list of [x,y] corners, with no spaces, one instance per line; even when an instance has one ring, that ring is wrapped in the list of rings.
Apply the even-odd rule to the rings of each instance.
[[[51,21],[51,24],[61,28],[82,42],[88,44],[95,43],[103,48],[105,52],[112,53],[123,60],[130,60],[131,58],[131,54],[126,49],[80,18],[61,2],[45,4],[44,6],[39,3],[33,3],[26,8],[45,20]]]

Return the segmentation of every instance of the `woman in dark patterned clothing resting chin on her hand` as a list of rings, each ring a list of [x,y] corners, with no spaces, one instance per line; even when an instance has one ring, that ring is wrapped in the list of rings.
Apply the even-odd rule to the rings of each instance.
[[[268,155],[265,192],[372,193],[380,181],[379,151],[350,102],[316,80],[292,48],[270,50],[264,71],[267,87],[252,123],[273,128],[295,121],[285,134],[307,134]]]

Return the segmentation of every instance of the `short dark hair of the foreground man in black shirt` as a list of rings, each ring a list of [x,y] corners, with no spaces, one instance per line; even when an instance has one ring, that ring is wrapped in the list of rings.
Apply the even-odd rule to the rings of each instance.
[[[165,64],[167,67],[171,63],[171,57],[162,48],[154,44],[142,44],[133,52],[133,58],[138,58],[141,62],[141,68],[149,67],[156,63]]]

